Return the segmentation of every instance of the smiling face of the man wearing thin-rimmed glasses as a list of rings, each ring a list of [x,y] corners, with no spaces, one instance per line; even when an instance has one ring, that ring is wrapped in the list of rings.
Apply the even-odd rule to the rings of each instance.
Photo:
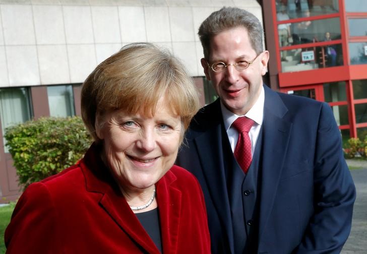
[[[231,66],[216,73],[208,67],[206,59],[201,59],[205,76],[212,82],[222,103],[237,115],[244,115],[249,111],[262,89],[262,76],[267,71],[269,52],[264,51],[257,58],[256,56],[247,29],[237,27],[215,35],[210,43],[209,65],[224,62]],[[251,62],[254,59],[245,70],[237,71],[233,66],[238,61]]]

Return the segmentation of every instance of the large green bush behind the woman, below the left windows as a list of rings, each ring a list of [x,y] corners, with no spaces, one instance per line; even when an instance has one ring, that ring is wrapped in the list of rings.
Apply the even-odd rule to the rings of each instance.
[[[79,116],[30,120],[7,128],[5,138],[23,187],[75,164],[92,142]]]

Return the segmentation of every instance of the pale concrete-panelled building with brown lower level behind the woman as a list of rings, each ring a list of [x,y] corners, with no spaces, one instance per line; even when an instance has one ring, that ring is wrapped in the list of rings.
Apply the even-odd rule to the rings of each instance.
[[[5,128],[40,116],[80,115],[81,84],[123,45],[168,48],[194,77],[202,104],[211,101],[197,31],[223,6],[262,20],[256,0],[0,0],[0,203],[20,194]]]

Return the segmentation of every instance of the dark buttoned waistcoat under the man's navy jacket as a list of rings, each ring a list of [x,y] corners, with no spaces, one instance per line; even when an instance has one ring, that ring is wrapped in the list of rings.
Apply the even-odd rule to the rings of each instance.
[[[234,158],[226,132],[222,134],[224,161],[227,162],[224,168],[233,225],[234,252],[256,253],[259,232],[262,129],[256,143],[253,161],[246,175]]]

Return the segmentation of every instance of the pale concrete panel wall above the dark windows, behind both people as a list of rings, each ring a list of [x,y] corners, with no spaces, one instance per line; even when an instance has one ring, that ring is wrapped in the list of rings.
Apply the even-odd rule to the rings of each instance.
[[[169,48],[203,76],[197,31],[222,6],[262,20],[256,0],[0,0],[0,87],[82,83],[135,41]]]

